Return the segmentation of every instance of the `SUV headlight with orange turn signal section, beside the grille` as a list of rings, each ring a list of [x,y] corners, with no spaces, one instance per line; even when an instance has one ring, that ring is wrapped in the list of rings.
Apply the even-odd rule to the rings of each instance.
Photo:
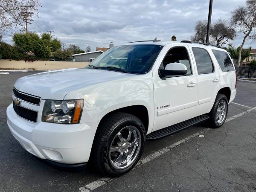
[[[84,99],[46,100],[42,114],[43,122],[79,123]]]

